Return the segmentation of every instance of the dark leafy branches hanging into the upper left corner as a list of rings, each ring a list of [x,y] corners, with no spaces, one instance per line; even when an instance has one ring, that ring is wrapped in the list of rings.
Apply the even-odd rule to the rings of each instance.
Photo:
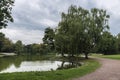
[[[0,29],[7,26],[9,21],[13,22],[11,16],[14,0],[0,0]]]

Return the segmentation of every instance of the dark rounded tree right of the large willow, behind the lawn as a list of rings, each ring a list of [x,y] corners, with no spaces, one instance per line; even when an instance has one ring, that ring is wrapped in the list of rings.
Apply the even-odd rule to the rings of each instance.
[[[104,32],[98,47],[98,52],[103,53],[104,55],[117,53],[116,37],[110,32]]]

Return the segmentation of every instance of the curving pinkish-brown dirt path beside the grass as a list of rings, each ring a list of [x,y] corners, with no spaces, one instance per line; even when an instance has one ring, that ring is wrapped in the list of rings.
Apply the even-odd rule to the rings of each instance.
[[[98,58],[102,66],[95,72],[74,80],[120,80],[120,60]]]

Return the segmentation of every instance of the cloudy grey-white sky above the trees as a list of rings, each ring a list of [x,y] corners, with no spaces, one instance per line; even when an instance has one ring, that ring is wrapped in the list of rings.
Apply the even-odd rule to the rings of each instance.
[[[9,23],[1,32],[13,42],[42,43],[45,28],[56,28],[61,13],[67,12],[70,5],[107,10],[110,32],[120,33],[120,0],[15,0],[14,23]]]

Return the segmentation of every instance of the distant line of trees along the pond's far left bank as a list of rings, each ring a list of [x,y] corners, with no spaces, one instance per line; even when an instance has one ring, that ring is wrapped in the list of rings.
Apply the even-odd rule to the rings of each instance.
[[[28,44],[24,45],[22,41],[18,40],[13,43],[0,33],[0,52],[16,53],[18,55],[45,55],[51,50],[44,44]]]

